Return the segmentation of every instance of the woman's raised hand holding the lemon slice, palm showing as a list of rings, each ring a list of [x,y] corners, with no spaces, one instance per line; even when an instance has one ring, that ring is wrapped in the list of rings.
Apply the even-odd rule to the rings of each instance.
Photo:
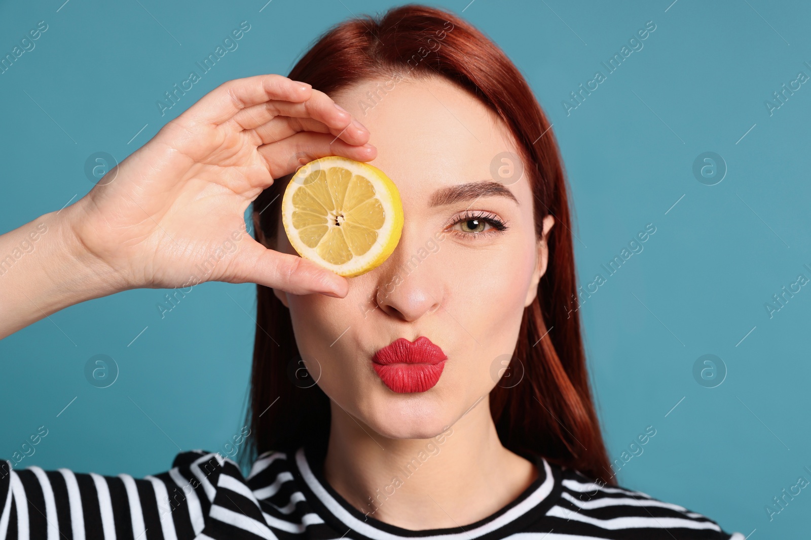
[[[104,266],[99,274],[112,274],[116,290],[225,281],[343,297],[345,278],[265,248],[245,232],[243,215],[274,178],[295,171],[300,163],[291,156],[367,161],[377,153],[368,140],[362,125],[309,85],[277,74],[232,80],[69,206],[70,227],[83,258]]]

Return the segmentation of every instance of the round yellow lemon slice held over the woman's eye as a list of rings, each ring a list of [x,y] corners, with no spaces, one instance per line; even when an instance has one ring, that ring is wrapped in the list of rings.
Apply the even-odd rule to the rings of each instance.
[[[298,169],[281,199],[287,238],[299,255],[351,277],[383,264],[400,241],[403,208],[383,171],[330,155]]]

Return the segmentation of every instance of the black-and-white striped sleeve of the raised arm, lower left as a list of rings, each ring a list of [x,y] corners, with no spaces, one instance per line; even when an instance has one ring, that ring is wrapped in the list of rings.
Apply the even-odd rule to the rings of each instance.
[[[204,450],[178,453],[171,468],[144,478],[14,465],[0,461],[0,538],[84,538],[87,531],[137,538],[153,529],[194,538],[219,492],[233,499],[247,491],[234,461]],[[251,500],[242,506],[255,507]]]

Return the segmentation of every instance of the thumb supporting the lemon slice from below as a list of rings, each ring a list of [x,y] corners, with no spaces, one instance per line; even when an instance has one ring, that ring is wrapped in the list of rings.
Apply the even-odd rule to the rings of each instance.
[[[223,281],[259,283],[294,295],[320,292],[343,298],[349,292],[346,278],[313,261],[267,249],[255,241],[247,249],[240,249],[229,266],[229,273]]]

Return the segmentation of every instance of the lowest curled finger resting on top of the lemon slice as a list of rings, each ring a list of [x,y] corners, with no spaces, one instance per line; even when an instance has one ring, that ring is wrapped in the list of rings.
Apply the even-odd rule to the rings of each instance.
[[[295,172],[302,158],[312,161],[328,155],[342,155],[356,161],[369,161],[377,157],[377,148],[370,144],[357,147],[334,137],[333,134],[308,131],[281,139],[279,142],[264,144],[256,150],[267,162],[268,172],[272,178],[281,178]],[[292,155],[298,159],[290,159]]]

